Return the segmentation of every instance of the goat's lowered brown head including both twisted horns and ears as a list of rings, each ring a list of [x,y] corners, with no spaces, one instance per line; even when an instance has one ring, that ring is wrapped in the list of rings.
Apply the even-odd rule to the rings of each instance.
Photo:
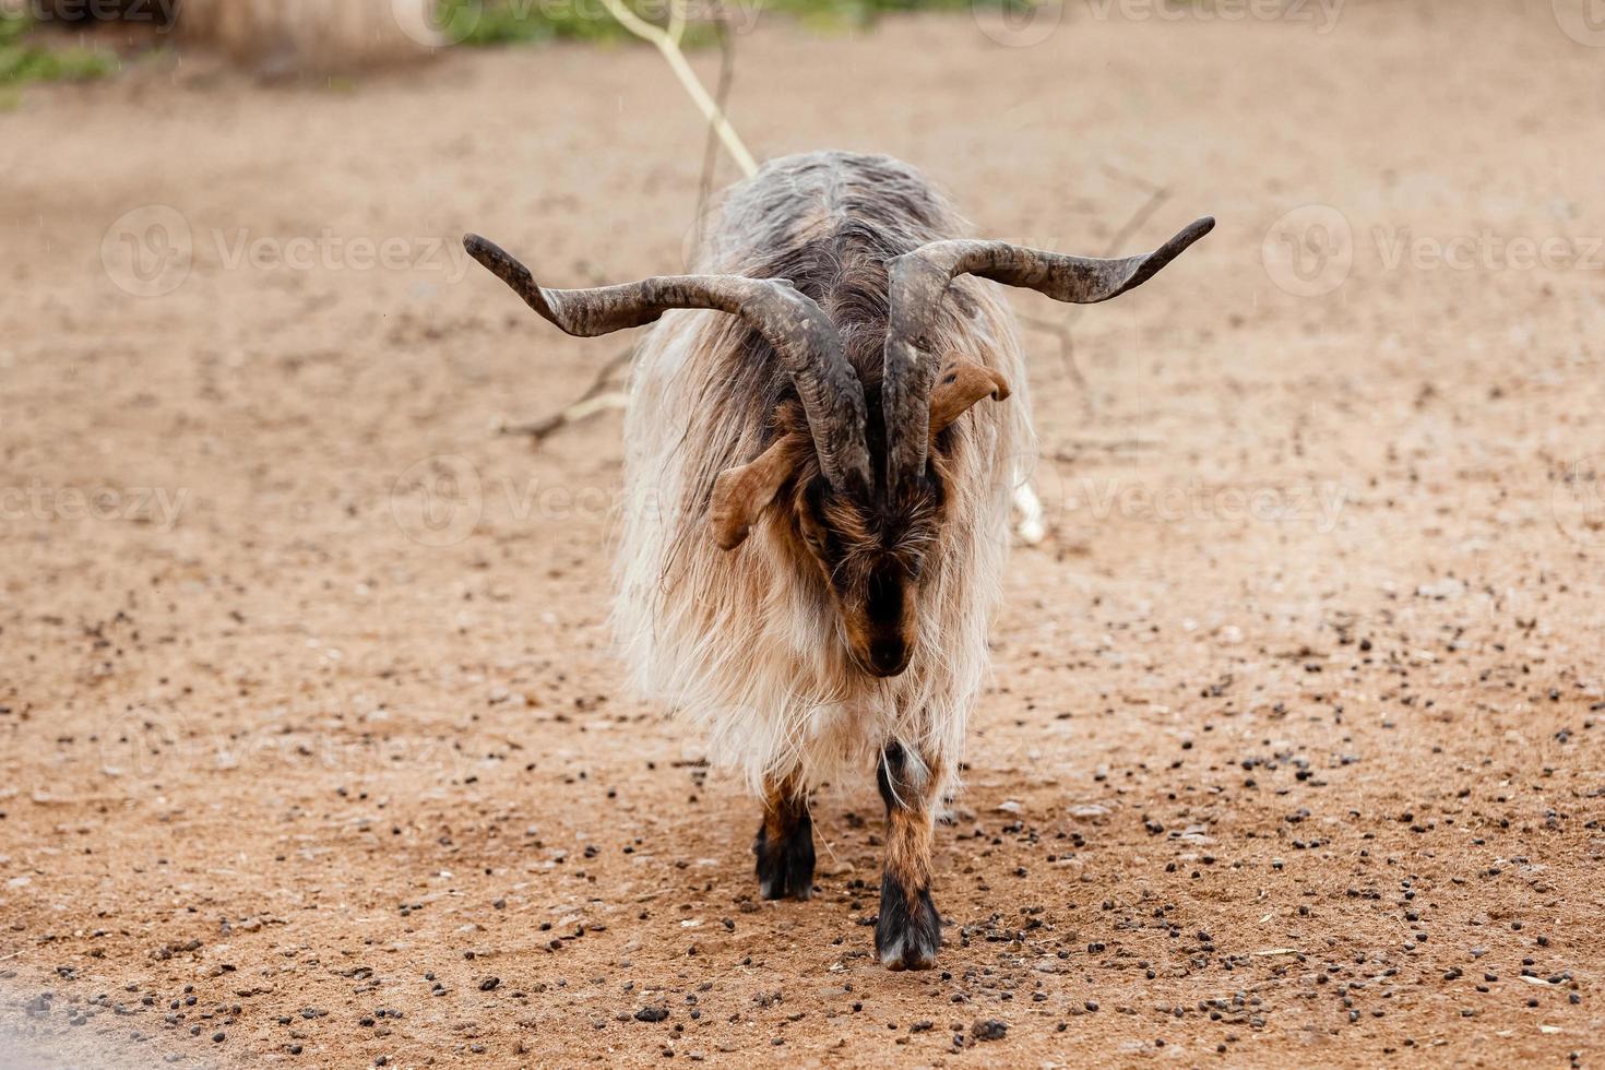
[[[915,648],[926,565],[941,542],[949,480],[942,433],[984,398],[1010,387],[984,355],[934,351],[947,287],[960,274],[1035,289],[1054,300],[1093,303],[1154,276],[1202,237],[1199,220],[1157,252],[1088,260],[984,241],[939,241],[888,265],[888,322],[881,379],[884,454],[872,457],[863,385],[836,324],[785,279],[658,276],[626,286],[551,290],[483,237],[465,239],[541,316],[568,334],[599,335],[655,321],[671,308],[740,316],[780,358],[796,401],[769,414],[774,438],[753,460],[717,475],[708,499],[709,536],[735,550],[766,510],[785,510],[799,561],[819,571],[854,663],[897,675]],[[880,452],[880,451],[876,451]]]

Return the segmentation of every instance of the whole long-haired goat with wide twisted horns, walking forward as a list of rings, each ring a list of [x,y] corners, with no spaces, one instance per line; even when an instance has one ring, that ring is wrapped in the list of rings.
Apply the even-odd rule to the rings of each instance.
[[[933,818],[987,672],[1010,491],[1034,448],[993,282],[1103,302],[1212,226],[1125,260],[969,241],[908,165],[814,152],[725,194],[700,274],[542,289],[465,239],[568,334],[658,321],[624,428],[613,618],[626,659],[761,796],[766,898],[812,890],[809,789],[875,762],[888,813],[875,946],[891,969],[926,969],[941,946]]]

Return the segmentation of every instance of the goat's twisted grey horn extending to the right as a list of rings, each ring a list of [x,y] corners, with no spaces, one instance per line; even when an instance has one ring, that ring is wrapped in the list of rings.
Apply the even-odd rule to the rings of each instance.
[[[1167,263],[1215,228],[1202,218],[1151,253],[1124,260],[1069,257],[1008,242],[952,239],[929,242],[888,265],[891,316],[886,326],[886,476],[888,486],[918,475],[929,446],[931,383],[941,355],[931,351],[931,321],[960,274],[1024,286],[1056,302],[1093,305],[1148,282]]]

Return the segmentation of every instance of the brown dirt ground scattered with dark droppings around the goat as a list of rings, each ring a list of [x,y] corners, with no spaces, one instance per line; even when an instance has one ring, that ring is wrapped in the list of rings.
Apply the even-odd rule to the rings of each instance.
[[[868,776],[761,902],[756,804],[624,693],[618,414],[496,433],[620,340],[454,241],[677,270],[655,53],[0,116],[0,1065],[1599,1065],[1605,51],[1536,0],[1143,11],[738,43],[761,156],[1082,253],[1220,218],[1014,298],[1053,533],[926,974],[872,956]]]

